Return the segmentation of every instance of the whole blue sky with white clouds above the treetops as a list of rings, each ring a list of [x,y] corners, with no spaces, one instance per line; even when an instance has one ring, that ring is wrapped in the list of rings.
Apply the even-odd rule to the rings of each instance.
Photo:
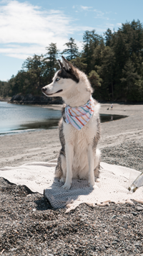
[[[29,56],[46,54],[51,42],[61,52],[72,37],[82,50],[86,30],[104,35],[133,19],[143,23],[143,0],[0,0],[0,81],[16,76]]]

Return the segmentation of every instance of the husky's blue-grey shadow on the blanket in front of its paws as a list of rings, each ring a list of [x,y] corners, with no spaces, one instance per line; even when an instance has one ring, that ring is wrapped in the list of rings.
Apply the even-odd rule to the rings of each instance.
[[[63,185],[64,182],[54,178],[51,188],[44,189],[44,198],[54,209],[64,208],[78,200],[79,196],[89,195],[94,189],[89,187],[88,180],[73,179],[69,190],[62,188]]]

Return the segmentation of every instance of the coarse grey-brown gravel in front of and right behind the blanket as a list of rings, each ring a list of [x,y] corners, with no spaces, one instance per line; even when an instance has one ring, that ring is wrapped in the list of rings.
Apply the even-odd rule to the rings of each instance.
[[[142,170],[142,152],[142,141],[127,141],[104,148],[102,161]],[[26,186],[0,178],[0,188],[0,255],[143,256],[142,204],[82,204],[65,214]]]

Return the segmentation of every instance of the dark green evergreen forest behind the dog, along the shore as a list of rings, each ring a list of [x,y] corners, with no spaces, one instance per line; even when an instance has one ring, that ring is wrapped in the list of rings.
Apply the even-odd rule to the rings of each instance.
[[[122,24],[104,35],[85,31],[82,52],[71,37],[59,52],[56,43],[46,47],[46,55],[27,58],[16,76],[0,81],[0,97],[41,96],[41,87],[51,83],[61,55],[87,74],[98,101],[143,101],[143,25],[139,20]]]

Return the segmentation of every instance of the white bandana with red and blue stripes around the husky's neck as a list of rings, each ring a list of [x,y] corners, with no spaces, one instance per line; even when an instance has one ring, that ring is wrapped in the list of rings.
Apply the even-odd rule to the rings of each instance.
[[[72,124],[78,130],[82,129],[87,122],[92,117],[94,113],[94,99],[90,96],[89,101],[84,106],[78,106],[72,108],[71,106],[66,105],[65,114],[66,114],[66,123]]]

